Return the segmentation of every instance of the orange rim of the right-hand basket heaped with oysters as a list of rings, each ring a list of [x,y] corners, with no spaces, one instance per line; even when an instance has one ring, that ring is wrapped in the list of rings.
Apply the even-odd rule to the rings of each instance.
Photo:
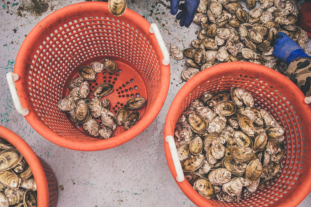
[[[165,157],[175,182],[178,184],[179,188],[183,191],[183,193],[197,206],[207,206],[214,204],[212,204],[208,199],[201,196],[186,179],[183,182],[178,182],[176,180],[177,173],[175,171],[172,156],[169,150],[169,144],[168,142],[165,141],[165,137],[169,135],[174,137],[174,127],[175,124],[177,123],[178,111],[182,106],[182,103],[185,100],[185,98],[195,88],[197,88],[199,84],[201,84],[203,81],[206,81],[209,77],[218,74],[224,74],[228,70],[230,71],[247,70],[249,74],[252,75],[260,73],[273,77],[276,82],[283,84],[288,89],[288,92],[292,92],[293,94],[295,94],[296,99],[302,103],[301,106],[304,108],[306,112],[301,116],[304,116],[305,120],[309,122],[309,125],[311,125],[310,124],[311,118],[309,118],[307,115],[311,114],[311,106],[304,102],[305,96],[303,92],[301,92],[300,89],[292,81],[290,81],[290,79],[286,78],[279,72],[272,70],[271,68],[251,62],[226,62],[211,66],[210,68],[194,75],[179,90],[179,92],[176,94],[169,107],[164,126],[164,149],[165,149]],[[308,173],[308,175],[306,176],[306,180],[311,180],[311,171],[306,173]],[[279,206],[284,207],[297,206],[299,203],[301,203],[301,201],[305,199],[306,196],[308,196],[310,191],[311,191],[311,182],[304,182],[304,185],[299,186],[299,189],[296,191],[297,193],[295,193],[295,195],[288,195],[288,197],[284,196],[283,198],[285,198],[286,200],[282,203],[282,205]]]

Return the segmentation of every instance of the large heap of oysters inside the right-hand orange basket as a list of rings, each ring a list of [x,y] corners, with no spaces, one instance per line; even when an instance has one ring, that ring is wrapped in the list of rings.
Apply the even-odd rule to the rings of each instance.
[[[244,88],[204,92],[180,116],[175,143],[186,179],[205,198],[238,202],[281,170],[285,130]]]

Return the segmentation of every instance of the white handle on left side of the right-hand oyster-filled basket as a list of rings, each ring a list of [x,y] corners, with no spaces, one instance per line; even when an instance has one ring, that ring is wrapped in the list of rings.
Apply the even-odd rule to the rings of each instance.
[[[183,169],[181,168],[181,164],[178,158],[174,137],[172,135],[168,135],[165,137],[165,141],[169,143],[169,151],[171,152],[174,167],[177,173],[176,180],[178,182],[183,182],[185,176],[183,175]]]

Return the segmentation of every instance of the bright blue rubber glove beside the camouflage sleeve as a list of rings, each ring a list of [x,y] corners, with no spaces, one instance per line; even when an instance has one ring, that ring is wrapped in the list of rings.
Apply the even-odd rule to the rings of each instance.
[[[304,50],[284,32],[276,33],[272,54],[287,65],[297,57],[309,57]]]

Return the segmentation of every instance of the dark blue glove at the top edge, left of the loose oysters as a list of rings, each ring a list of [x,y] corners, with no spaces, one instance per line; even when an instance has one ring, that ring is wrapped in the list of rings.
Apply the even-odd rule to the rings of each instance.
[[[181,11],[177,14],[176,19],[180,20],[179,25],[189,27],[193,21],[197,7],[199,6],[200,0],[185,0],[185,3],[179,5],[180,0],[171,1],[171,14],[177,14],[178,9]]]

